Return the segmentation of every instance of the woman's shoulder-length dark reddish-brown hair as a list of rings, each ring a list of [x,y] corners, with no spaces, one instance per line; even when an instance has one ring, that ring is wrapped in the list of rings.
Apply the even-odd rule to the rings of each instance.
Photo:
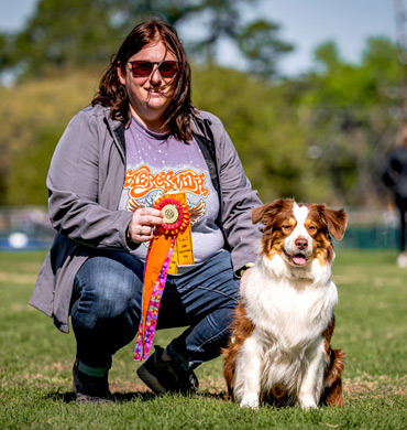
[[[161,40],[179,62],[174,97],[164,114],[164,126],[178,140],[190,140],[189,115],[195,111],[190,100],[190,66],[175,28],[162,20],[145,21],[125,37],[114,58],[100,79],[99,92],[91,104],[111,108],[110,116],[124,125],[131,121],[129,97],[120,83],[118,66],[123,72],[129,58],[153,41]]]

